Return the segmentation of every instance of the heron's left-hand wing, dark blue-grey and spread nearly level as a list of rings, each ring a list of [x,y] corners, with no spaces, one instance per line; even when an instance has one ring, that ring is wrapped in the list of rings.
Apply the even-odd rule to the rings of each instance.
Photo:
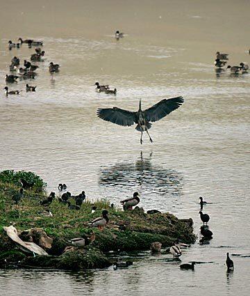
[[[130,126],[135,123],[136,112],[119,109],[117,107],[97,109],[97,116],[117,125]]]

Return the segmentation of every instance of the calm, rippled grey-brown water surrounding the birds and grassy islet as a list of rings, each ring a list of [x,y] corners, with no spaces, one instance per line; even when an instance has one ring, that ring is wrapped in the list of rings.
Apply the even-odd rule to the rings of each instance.
[[[182,263],[142,252],[124,270],[62,272],[1,270],[1,295],[249,295],[249,100],[250,75],[216,73],[215,52],[228,64],[250,62],[249,1],[0,1],[1,88],[12,56],[22,61],[33,49],[8,50],[17,38],[44,40],[38,77],[0,92],[0,169],[30,170],[48,191],[65,182],[73,194],[121,198],[140,192],[140,205],[192,217],[198,236],[199,196],[210,204],[210,244],[197,242]],[[115,40],[119,29],[126,34]],[[61,65],[49,75],[49,62]],[[117,95],[96,93],[110,84]],[[163,98],[185,102],[153,123],[140,145],[134,127],[96,116],[99,107],[146,109]],[[110,217],[112,219],[112,217]],[[226,252],[235,271],[226,273]]]

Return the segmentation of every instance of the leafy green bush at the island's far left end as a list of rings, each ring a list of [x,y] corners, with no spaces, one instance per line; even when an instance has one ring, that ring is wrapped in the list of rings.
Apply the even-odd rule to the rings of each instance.
[[[1,171],[0,173],[0,182],[5,184],[21,186],[21,179],[33,184],[32,189],[36,192],[42,191],[47,187],[47,183],[45,183],[40,176],[36,175],[32,171],[6,170]]]

